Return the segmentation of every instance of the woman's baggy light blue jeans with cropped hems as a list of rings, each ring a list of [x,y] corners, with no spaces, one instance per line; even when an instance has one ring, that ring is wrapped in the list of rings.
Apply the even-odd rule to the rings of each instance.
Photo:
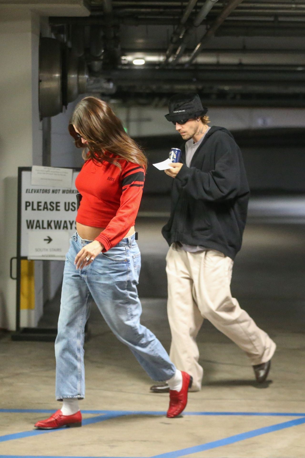
[[[142,307],[137,292],[141,254],[134,235],[76,270],[76,254],[91,240],[77,232],[70,239],[55,341],[56,399],[85,397],[84,329],[95,302],[117,338],[128,345],[153,380],[165,381],[176,372],[165,349],[140,324]]]

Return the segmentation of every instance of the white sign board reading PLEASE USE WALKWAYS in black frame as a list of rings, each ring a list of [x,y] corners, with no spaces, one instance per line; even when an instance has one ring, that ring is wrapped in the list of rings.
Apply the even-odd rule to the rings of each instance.
[[[75,178],[79,172],[72,169],[71,172],[72,189],[32,185],[31,171],[21,172],[21,256],[28,256],[29,234],[33,232],[45,231],[52,239],[52,234],[57,232],[67,231],[69,238],[75,233],[76,194],[78,193],[75,188]],[[35,238],[32,238],[32,235],[30,237],[33,242]],[[32,242],[31,253],[33,254]],[[67,250],[68,247],[67,245]]]

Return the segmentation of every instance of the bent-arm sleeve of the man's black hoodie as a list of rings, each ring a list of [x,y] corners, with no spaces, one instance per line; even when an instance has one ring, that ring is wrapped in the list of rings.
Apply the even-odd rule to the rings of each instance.
[[[240,173],[239,148],[233,138],[225,135],[217,139],[213,170],[207,173],[183,164],[176,180],[196,200],[225,201],[238,195]]]

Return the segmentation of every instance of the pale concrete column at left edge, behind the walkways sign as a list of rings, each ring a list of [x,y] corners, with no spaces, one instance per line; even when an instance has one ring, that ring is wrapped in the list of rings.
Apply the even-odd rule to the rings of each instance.
[[[17,172],[42,164],[42,128],[38,113],[39,16],[23,11],[0,16],[0,327],[14,330],[16,281],[10,259],[16,256]],[[38,266],[37,266],[38,267]],[[39,271],[39,269],[36,269]],[[42,276],[40,275],[40,278]],[[37,303],[42,281],[37,278]],[[35,326],[41,309],[26,311],[23,326]]]

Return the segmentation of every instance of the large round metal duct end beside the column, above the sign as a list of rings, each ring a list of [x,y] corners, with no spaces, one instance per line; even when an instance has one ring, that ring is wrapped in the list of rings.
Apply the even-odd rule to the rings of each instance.
[[[54,38],[40,38],[39,113],[55,116],[86,92],[88,71],[84,59]]]

